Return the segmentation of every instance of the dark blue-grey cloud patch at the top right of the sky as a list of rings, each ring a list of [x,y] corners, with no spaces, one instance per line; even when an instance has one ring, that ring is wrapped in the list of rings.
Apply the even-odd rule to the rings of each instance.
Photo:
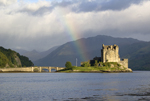
[[[76,12],[91,12],[91,11],[105,11],[105,10],[123,10],[132,4],[139,4],[143,0],[95,0],[83,1],[79,6],[74,7]]]

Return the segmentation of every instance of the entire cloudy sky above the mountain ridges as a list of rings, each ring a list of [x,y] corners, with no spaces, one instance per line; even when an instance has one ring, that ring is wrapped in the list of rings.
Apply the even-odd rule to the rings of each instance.
[[[0,46],[45,51],[96,35],[150,41],[150,0],[0,0]]]

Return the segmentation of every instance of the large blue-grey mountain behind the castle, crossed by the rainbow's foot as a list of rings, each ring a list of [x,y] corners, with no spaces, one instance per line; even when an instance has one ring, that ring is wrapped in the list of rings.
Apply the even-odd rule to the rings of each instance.
[[[102,44],[112,45],[117,44],[120,48],[132,47],[134,43],[144,43],[142,41],[132,38],[114,38],[111,36],[98,35],[96,37],[82,38],[76,41],[68,42],[55,51],[51,52],[46,57],[35,61],[34,64],[38,66],[58,66],[64,67],[66,61],[70,61],[73,65],[76,65],[76,59],[78,66],[81,61],[88,61],[95,56],[101,56]],[[80,47],[79,47],[80,46]],[[130,51],[130,49],[128,50]],[[133,49],[134,51],[134,49]],[[127,52],[126,52],[127,53]],[[125,51],[121,56],[127,57]],[[130,53],[130,52],[129,52]],[[130,54],[131,55],[131,54]]]

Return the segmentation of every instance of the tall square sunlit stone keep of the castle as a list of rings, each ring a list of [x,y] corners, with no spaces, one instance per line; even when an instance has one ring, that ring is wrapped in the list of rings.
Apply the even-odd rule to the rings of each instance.
[[[102,62],[120,62],[119,47],[117,45],[102,45]]]

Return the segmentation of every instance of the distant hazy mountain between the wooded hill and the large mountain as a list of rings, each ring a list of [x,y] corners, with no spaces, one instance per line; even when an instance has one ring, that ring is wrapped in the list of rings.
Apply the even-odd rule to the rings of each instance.
[[[50,54],[52,51],[54,51],[57,48],[58,48],[58,46],[55,46],[44,52],[38,52],[36,50],[32,50],[32,51],[26,51],[26,50],[21,50],[21,49],[15,49],[15,50],[18,53],[28,57],[31,61],[36,61],[41,58],[44,58],[45,56],[47,56],[48,54]]]

